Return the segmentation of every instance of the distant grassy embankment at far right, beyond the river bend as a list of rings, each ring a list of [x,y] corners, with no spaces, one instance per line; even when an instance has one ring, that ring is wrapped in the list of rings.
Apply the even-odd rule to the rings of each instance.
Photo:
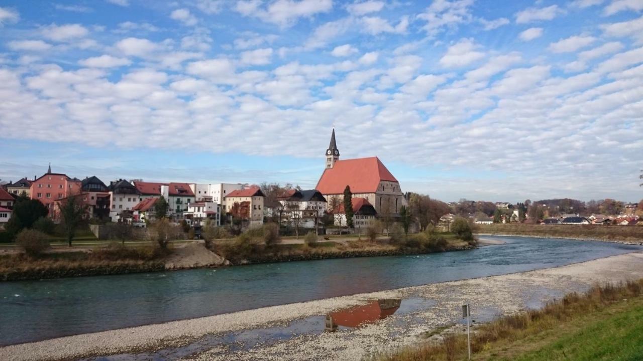
[[[481,234],[506,234],[557,238],[580,238],[643,244],[643,226],[624,225],[541,225],[541,224],[481,224]]]

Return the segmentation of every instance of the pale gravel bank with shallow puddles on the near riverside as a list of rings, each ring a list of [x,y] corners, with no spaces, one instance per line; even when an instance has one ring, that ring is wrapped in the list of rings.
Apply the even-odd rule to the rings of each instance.
[[[367,304],[374,299],[401,299],[402,306],[397,314],[358,328],[302,333],[294,337],[281,333],[282,339],[249,349],[221,344],[195,349],[186,357],[197,360],[359,360],[383,349],[414,344],[424,339],[422,335],[427,331],[458,322],[460,305],[465,302],[472,304],[473,315],[479,322],[494,315],[537,307],[552,297],[573,290],[583,291],[595,283],[641,277],[643,252],[634,252],[554,269],[334,297],[7,346],[0,348],[0,359],[69,360],[151,351],[185,345],[203,339],[205,335],[239,335],[244,330],[257,330],[252,333],[256,338],[261,330],[288,329],[293,322],[302,324],[310,317],[323,317],[329,312]]]

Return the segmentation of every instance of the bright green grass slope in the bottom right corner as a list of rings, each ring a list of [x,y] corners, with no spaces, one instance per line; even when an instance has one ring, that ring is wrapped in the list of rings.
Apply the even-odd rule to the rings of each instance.
[[[561,322],[525,339],[499,342],[474,360],[643,360],[643,298]]]

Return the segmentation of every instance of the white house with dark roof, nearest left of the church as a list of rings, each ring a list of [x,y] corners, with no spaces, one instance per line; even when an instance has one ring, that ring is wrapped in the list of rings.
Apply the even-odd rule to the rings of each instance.
[[[318,227],[327,210],[326,198],[317,189],[289,189],[277,200],[281,205],[281,222],[298,222],[302,228]]]

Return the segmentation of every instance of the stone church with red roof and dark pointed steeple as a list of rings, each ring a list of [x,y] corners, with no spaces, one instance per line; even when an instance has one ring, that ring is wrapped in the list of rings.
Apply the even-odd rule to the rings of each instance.
[[[353,197],[366,198],[378,215],[399,215],[406,205],[400,184],[377,157],[342,159],[335,141],[335,129],[326,150],[326,166],[316,189],[327,199],[329,207],[343,200],[344,189],[350,186]],[[331,210],[331,209],[329,209]]]

